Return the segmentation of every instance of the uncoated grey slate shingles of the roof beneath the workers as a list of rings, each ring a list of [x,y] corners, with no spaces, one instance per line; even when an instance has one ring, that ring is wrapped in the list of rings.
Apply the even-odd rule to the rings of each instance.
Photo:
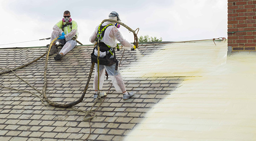
[[[143,44],[140,52],[150,55],[164,47],[157,44]],[[47,69],[47,95],[58,103],[77,100],[87,81],[90,71],[90,53],[93,46],[76,46],[60,61],[49,57]],[[0,49],[0,67],[13,69],[41,56],[47,48]],[[117,52],[118,60],[123,49]],[[132,51],[125,51],[120,70],[136,64]],[[44,85],[45,57],[37,62],[15,71],[17,75],[42,91]],[[119,61],[120,62],[120,61]],[[0,69],[0,72],[3,70]],[[132,77],[123,75],[128,91],[136,95],[122,100],[122,94],[115,92],[113,86],[102,106],[91,121],[89,140],[120,141],[127,135],[161,99],[180,86],[180,77]],[[0,85],[29,90],[36,94],[25,82],[12,72],[0,75]],[[103,90],[111,86],[110,78],[105,81]],[[84,100],[75,107],[89,110],[94,103],[93,76]],[[42,95],[41,95],[42,97]],[[99,105],[99,103],[97,104]],[[71,108],[44,106],[38,97],[0,87],[0,141],[75,141],[84,140],[90,132],[89,124],[83,121],[84,113]]]

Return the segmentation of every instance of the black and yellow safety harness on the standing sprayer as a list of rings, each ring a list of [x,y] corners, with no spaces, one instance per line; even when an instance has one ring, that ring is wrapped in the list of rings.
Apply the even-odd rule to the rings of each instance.
[[[117,70],[118,69],[118,60],[116,60],[115,48],[113,48],[111,46],[108,46],[108,45],[106,45],[103,42],[100,42],[100,40],[102,40],[102,38],[103,38],[103,36],[105,34],[106,29],[109,26],[113,26],[113,25],[112,24],[108,24],[106,26],[102,26],[102,23],[99,25],[97,37],[95,39],[97,43],[96,43],[95,48],[93,49],[93,53],[91,54],[91,59],[92,59],[92,62],[97,63],[97,58],[98,57],[96,55],[94,55],[94,50],[95,49],[98,50],[98,46],[99,46],[99,50],[101,52],[106,52],[106,56],[104,58],[99,57],[99,64],[100,65],[105,65],[105,66],[111,66],[114,63],[116,63],[115,70]],[[117,44],[117,46],[118,46],[118,44]],[[118,50],[119,50],[119,46],[118,46]],[[113,55],[114,57],[110,58],[111,55]]]

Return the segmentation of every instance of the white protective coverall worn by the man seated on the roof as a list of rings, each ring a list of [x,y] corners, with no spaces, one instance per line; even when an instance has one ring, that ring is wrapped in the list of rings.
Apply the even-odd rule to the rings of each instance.
[[[72,29],[70,28],[70,25],[64,27],[64,33],[65,33],[65,39],[61,40],[61,39],[57,39],[54,43],[59,42],[62,45],[64,45],[61,49],[60,53],[63,53],[63,55],[66,55],[67,52],[69,52],[70,50],[72,50],[75,46],[76,46],[76,40],[73,40],[72,38],[75,37],[75,35],[78,36],[78,32],[77,32],[77,23],[76,21],[72,20]],[[63,24],[65,25],[66,22],[63,22]],[[60,20],[58,23],[56,23],[53,26],[53,31],[52,31],[52,35],[51,35],[51,41],[53,39],[55,39],[56,37],[60,36],[61,33],[63,32],[62,29],[62,20]]]

